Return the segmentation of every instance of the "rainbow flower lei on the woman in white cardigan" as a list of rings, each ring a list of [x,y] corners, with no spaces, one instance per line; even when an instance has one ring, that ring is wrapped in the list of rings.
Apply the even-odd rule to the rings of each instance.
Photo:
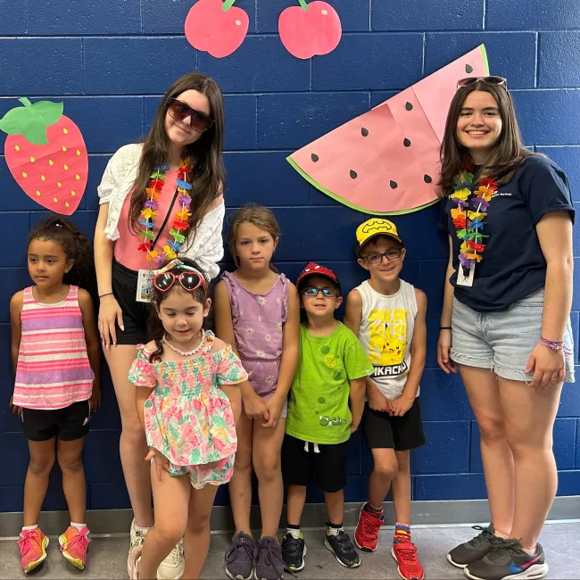
[[[192,169],[191,157],[181,160],[179,163],[178,170],[178,203],[181,204],[181,210],[175,214],[176,220],[173,220],[170,229],[170,236],[173,239],[168,238],[167,244],[163,246],[162,252],[158,253],[157,250],[153,249],[154,244],[154,234],[153,225],[154,219],[157,217],[157,211],[159,209],[159,195],[162,191],[163,184],[165,182],[165,171],[169,170],[167,164],[159,166],[151,174],[151,181],[149,186],[145,189],[145,194],[147,195],[147,201],[141,210],[141,219],[138,223],[145,229],[139,233],[139,237],[143,239],[143,242],[137,246],[137,250],[140,252],[146,252],[147,255],[145,259],[149,262],[157,260],[161,266],[163,261],[174,260],[178,257],[178,252],[181,251],[182,244],[186,241],[186,236],[182,233],[189,228],[189,223],[187,220],[191,216],[189,207],[191,205],[191,184],[187,183],[187,178]]]

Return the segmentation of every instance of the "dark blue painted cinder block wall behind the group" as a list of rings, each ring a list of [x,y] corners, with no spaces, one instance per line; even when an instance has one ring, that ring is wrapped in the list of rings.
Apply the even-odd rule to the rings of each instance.
[[[424,75],[485,43],[493,74],[508,78],[526,145],[558,162],[580,202],[580,11],[576,0],[330,0],[344,36],[332,54],[299,61],[277,36],[279,13],[295,0],[238,0],[250,15],[244,44],[216,60],[183,36],[192,0],[0,0],[0,115],[15,97],[64,101],[87,141],[87,193],[74,214],[92,236],[96,186],[111,154],[142,136],[163,91],[188,70],[226,94],[226,200],[274,208],[283,236],[279,268],[295,278],[306,261],[327,263],[352,288],[363,278],[352,237],[364,216],[311,188],[286,163],[294,149],[352,119]],[[0,511],[22,508],[28,465],[12,393],[8,302],[29,285],[26,236],[45,213],[13,181],[0,156]],[[445,240],[435,208],[396,218],[408,247],[404,278],[428,296],[428,358],[422,408],[428,444],[413,453],[415,500],[485,497],[478,431],[458,377],[436,368]],[[575,256],[580,256],[580,228]],[[576,258],[576,261],[578,258]],[[576,263],[580,276],[580,263]],[[576,341],[580,293],[573,307]],[[576,347],[576,362],[578,352]],[[104,373],[104,405],[92,420],[85,466],[94,510],[128,507],[120,468],[120,418]],[[580,491],[580,390],[568,385],[555,428],[560,495]],[[363,500],[371,466],[360,435],[351,442],[349,501]],[[60,474],[54,470],[54,484]],[[315,492],[309,501],[319,501]],[[220,490],[220,503],[227,503]],[[65,509],[51,485],[46,510]]]

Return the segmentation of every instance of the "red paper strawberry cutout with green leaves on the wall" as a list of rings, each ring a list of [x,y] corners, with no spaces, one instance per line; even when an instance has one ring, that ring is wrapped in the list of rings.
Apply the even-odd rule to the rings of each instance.
[[[87,146],[80,129],[62,114],[62,103],[19,101],[23,107],[0,119],[0,130],[8,134],[4,143],[8,169],[30,199],[70,215],[87,187]]]

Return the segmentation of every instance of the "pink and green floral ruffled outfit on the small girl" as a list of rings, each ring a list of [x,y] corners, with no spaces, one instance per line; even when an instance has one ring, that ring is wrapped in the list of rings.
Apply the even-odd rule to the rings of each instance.
[[[203,349],[191,359],[158,362],[151,362],[152,352],[139,344],[128,374],[134,385],[153,389],[144,407],[147,445],[170,460],[172,475],[186,475],[192,469],[184,468],[198,467],[193,471],[206,481],[196,487],[225,483],[212,471],[233,466],[237,439],[228,395],[220,387],[247,379],[231,347],[211,352],[213,341],[208,330]]]

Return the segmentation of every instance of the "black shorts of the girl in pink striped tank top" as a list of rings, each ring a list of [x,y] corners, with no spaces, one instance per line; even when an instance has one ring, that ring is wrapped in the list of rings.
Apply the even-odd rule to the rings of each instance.
[[[22,409],[22,432],[29,441],[77,441],[88,433],[91,408],[88,401],[73,402],[64,409]]]

